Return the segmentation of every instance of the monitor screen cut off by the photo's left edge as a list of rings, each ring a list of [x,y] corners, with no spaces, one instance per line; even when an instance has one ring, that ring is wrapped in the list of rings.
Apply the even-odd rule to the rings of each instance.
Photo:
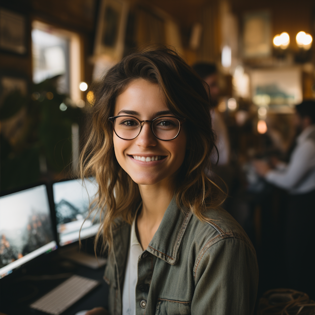
[[[0,197],[0,278],[55,249],[45,185]]]

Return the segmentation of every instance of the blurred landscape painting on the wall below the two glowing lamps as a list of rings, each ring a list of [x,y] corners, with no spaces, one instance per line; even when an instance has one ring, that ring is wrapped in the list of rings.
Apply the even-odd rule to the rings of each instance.
[[[299,67],[258,69],[251,72],[252,101],[279,112],[290,112],[303,99]]]

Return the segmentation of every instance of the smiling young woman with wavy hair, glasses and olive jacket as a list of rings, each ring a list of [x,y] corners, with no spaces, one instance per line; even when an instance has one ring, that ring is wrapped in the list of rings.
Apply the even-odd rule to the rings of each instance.
[[[82,176],[95,176],[108,247],[109,310],[87,314],[252,314],[250,240],[207,176],[209,89],[176,52],[151,47],[95,91]]]

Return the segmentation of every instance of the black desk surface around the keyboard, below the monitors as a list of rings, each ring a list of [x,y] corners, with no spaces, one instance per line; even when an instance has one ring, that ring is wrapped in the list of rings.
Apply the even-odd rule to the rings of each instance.
[[[43,271],[46,272],[43,273]],[[31,310],[29,305],[66,279],[55,279],[58,278],[58,275],[66,277],[72,274],[95,279],[100,282],[100,285],[66,310],[62,315],[75,315],[79,311],[91,310],[99,306],[106,309],[108,308],[107,297],[109,288],[103,280],[104,267],[92,269],[57,256],[49,265],[41,268],[39,273],[27,274],[26,276],[14,279],[9,285],[6,285],[5,288],[2,286],[0,312],[6,315],[44,314]],[[47,278],[49,278],[49,280]]]

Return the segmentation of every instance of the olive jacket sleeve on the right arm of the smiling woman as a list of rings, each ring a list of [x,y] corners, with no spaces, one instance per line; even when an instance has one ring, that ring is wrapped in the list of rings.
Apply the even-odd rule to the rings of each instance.
[[[237,238],[221,239],[204,248],[194,266],[191,314],[251,315],[258,285],[252,247]]]

